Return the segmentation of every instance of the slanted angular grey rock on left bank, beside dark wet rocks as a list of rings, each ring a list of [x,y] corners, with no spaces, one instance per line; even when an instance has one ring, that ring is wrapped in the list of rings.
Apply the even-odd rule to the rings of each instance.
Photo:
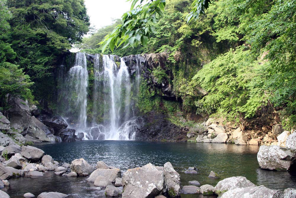
[[[41,140],[42,142],[51,142],[47,135],[51,134],[47,127],[41,123],[35,116],[30,118],[30,126],[28,128],[28,135],[34,139]]]

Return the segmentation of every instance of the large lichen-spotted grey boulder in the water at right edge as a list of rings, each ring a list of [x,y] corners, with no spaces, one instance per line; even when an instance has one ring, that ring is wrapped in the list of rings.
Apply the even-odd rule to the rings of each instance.
[[[295,150],[277,145],[260,146],[257,153],[260,168],[267,170],[290,170],[295,163]]]

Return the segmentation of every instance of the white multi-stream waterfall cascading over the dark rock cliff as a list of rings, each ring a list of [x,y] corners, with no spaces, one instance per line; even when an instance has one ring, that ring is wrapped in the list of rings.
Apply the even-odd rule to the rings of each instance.
[[[141,56],[136,56],[136,75],[131,79],[123,58],[114,55],[93,56],[92,104],[87,107],[88,71],[86,55],[77,53],[75,64],[65,80],[64,104],[67,104],[65,117],[72,117],[71,127],[83,132],[88,140],[134,140],[136,131],[143,125],[135,117],[135,101],[140,84]],[[90,72],[92,73],[92,71]],[[87,126],[87,108],[91,111],[91,127]],[[73,119],[73,117],[77,119]]]

